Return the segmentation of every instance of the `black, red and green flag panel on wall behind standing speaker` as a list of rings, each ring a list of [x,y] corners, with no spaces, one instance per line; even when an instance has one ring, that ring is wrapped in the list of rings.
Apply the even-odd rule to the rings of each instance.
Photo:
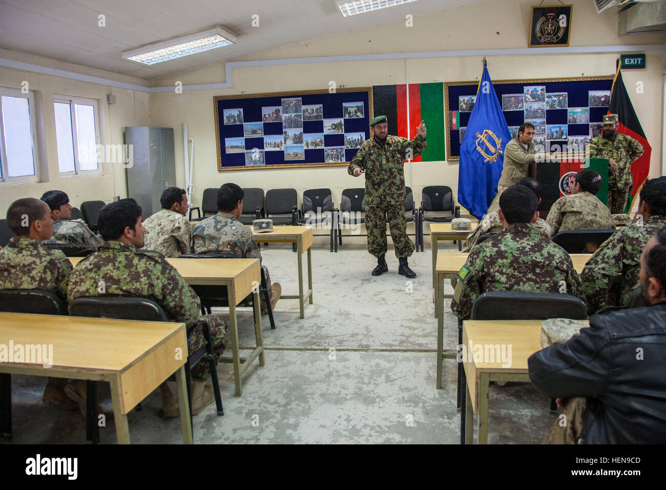
[[[408,102],[409,99],[409,102]],[[374,85],[374,115],[388,118],[388,134],[414,139],[421,121],[426,123],[428,146],[412,161],[443,161],[444,151],[444,83],[410,83]],[[409,109],[409,116],[408,116]]]

